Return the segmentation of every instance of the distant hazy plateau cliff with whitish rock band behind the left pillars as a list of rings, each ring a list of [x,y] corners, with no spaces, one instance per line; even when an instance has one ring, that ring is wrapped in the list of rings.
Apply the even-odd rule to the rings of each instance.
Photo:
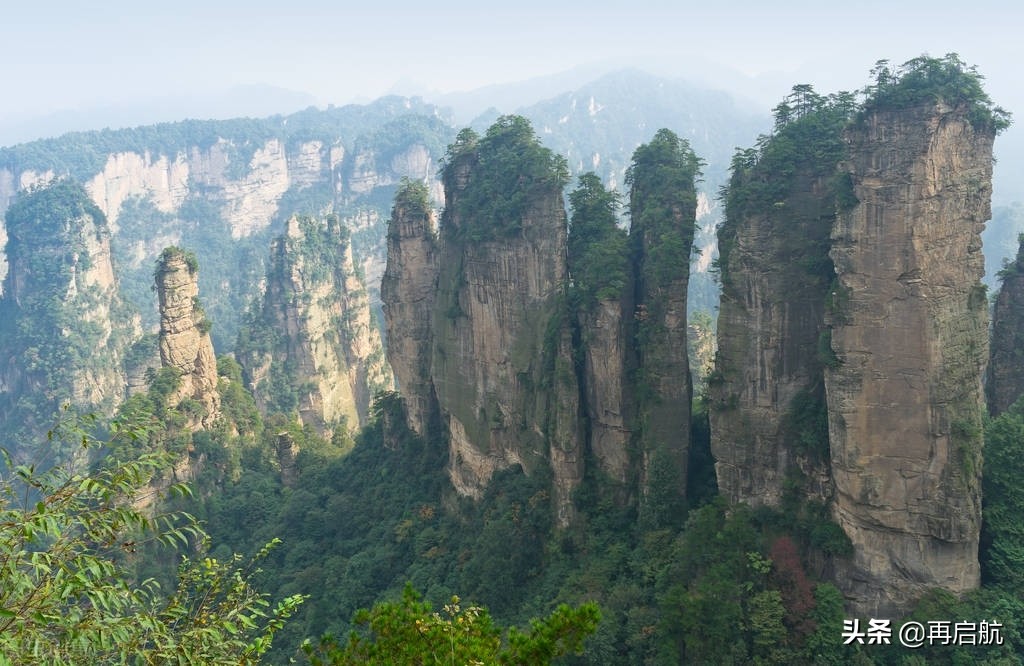
[[[409,176],[428,179],[439,197],[436,160],[450,137],[433,107],[397,97],[287,118],[74,133],[0,150],[0,212],[17,192],[54,174],[78,178],[110,220],[122,297],[146,328],[158,324],[144,288],[153,262],[165,247],[195,248],[214,343],[227,350],[240,315],[262,289],[260,248],[296,212],[350,221],[376,303],[385,254],[381,190]],[[0,228],[0,279],[5,235]]]

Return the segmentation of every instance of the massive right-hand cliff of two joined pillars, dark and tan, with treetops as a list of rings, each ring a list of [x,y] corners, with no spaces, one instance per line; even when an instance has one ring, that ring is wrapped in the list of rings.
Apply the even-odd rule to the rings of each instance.
[[[827,502],[852,543],[837,582],[877,617],[979,584],[980,234],[1000,118],[942,87],[970,78],[955,65],[883,73],[859,109],[795,88],[737,155],[721,234],[720,488]]]

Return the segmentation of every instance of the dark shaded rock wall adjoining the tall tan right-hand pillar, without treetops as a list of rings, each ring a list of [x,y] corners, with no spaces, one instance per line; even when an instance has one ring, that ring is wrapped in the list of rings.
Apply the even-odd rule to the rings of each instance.
[[[777,207],[730,225],[709,383],[718,487],[733,502],[778,506],[797,477],[812,496],[830,494],[818,355],[836,217],[826,186],[798,173]]]

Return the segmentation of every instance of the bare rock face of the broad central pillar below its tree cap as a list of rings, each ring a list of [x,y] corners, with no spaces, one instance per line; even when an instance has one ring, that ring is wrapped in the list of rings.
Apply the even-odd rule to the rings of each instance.
[[[552,486],[567,498],[582,476],[581,442],[555,445],[549,428],[553,418],[578,418],[568,412],[579,400],[571,356],[563,358],[562,183],[525,196],[514,231],[492,231],[495,220],[461,212],[475,168],[472,154],[449,166],[433,317],[431,375],[449,432],[451,480],[460,494],[479,498],[497,470],[521,465],[530,473],[555,456]],[[555,368],[568,368],[567,376],[553,379]],[[567,384],[572,398],[560,394]]]

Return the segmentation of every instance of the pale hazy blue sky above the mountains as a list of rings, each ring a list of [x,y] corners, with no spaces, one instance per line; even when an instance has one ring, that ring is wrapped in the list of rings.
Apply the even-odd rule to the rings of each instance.
[[[172,113],[239,86],[304,93],[292,99],[298,108],[593,64],[720,85],[767,111],[795,83],[857,88],[878,59],[950,51],[977,65],[995,102],[1024,119],[1024,7],[1004,0],[9,4],[0,130],[47,114],[72,123],[95,109],[156,103]]]

